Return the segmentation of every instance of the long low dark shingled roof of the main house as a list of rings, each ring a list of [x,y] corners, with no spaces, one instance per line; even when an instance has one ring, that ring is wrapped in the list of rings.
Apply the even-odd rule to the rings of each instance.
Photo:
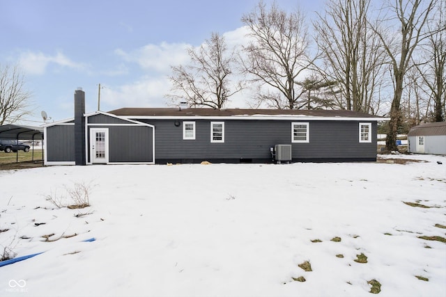
[[[295,109],[178,109],[178,108],[123,108],[109,111],[124,116],[233,116],[233,115],[307,115],[314,117],[381,118],[356,111],[295,110]],[[385,118],[383,118],[385,120]]]

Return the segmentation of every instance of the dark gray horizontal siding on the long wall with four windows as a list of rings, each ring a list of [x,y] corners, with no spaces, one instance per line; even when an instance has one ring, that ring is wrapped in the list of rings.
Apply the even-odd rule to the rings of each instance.
[[[291,144],[291,120],[194,120],[195,140],[183,140],[183,121],[140,120],[155,125],[157,160],[270,160],[270,147]],[[224,122],[224,143],[210,142],[210,122]],[[293,160],[376,159],[376,122],[371,143],[359,143],[357,121],[309,122],[309,143],[292,143]],[[365,121],[364,121],[365,122]]]

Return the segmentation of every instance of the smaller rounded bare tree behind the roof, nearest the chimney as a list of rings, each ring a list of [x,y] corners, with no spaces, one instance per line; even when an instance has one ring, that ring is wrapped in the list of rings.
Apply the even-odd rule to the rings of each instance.
[[[231,86],[229,78],[236,61],[235,51],[228,51],[222,35],[212,33],[210,40],[206,40],[199,49],[191,47],[187,54],[190,65],[171,67],[173,74],[169,79],[174,93],[167,97],[185,99],[192,107],[221,109],[229,97],[242,90],[240,82]]]

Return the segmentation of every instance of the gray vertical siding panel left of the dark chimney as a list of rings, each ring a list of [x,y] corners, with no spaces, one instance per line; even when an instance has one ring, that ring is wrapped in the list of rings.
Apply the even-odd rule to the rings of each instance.
[[[75,125],[47,127],[47,161],[75,161]]]

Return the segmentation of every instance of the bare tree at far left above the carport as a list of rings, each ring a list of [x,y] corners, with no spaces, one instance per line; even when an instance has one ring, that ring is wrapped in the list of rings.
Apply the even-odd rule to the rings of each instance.
[[[0,65],[0,125],[13,124],[31,114],[30,97],[19,67]]]

